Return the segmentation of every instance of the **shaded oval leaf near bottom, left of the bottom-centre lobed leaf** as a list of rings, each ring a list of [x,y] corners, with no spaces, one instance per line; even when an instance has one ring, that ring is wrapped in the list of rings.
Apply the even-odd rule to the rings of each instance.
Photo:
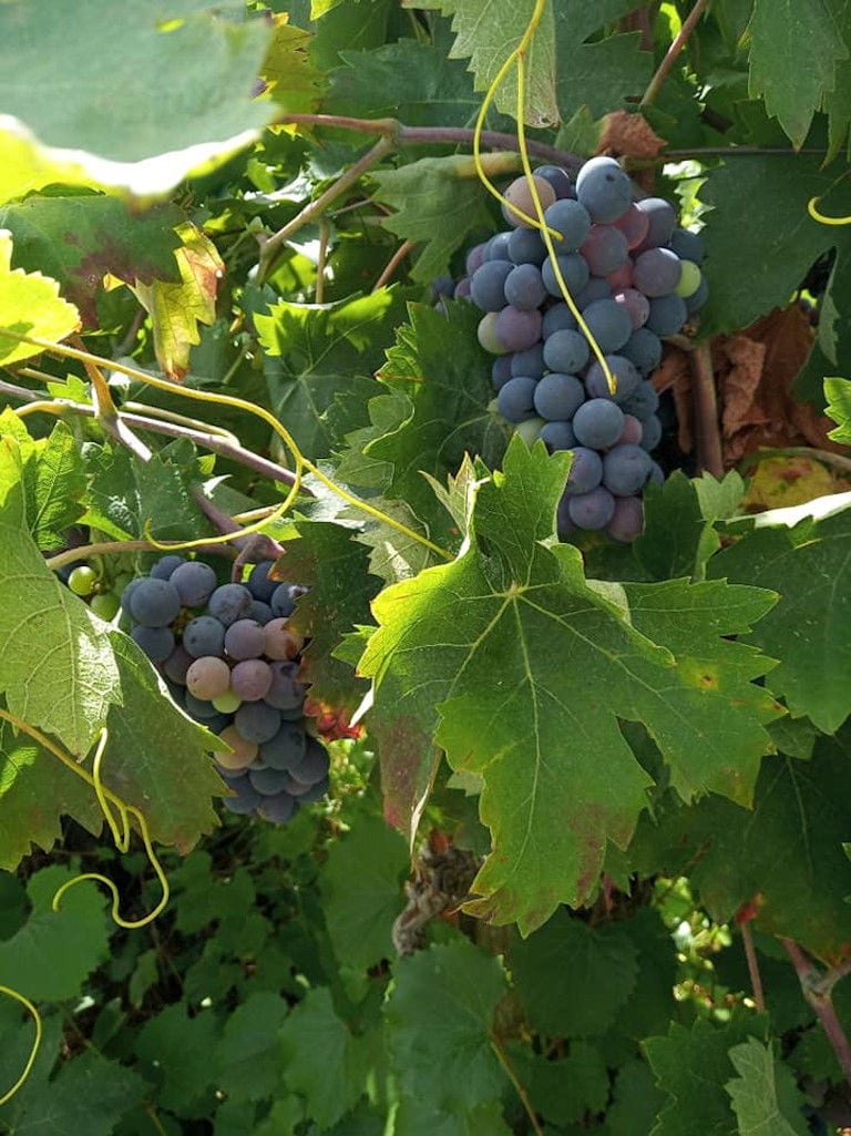
[[[358,1042],[334,1012],[326,986],[309,991],[294,1008],[281,1028],[281,1044],[286,1087],[307,1100],[320,1131],[331,1128],[360,1096],[364,1070]]]

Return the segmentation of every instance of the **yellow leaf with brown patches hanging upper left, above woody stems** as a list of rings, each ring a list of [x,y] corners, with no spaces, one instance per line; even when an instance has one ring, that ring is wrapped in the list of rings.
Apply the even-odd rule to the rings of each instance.
[[[199,324],[216,320],[216,293],[225,266],[209,237],[185,223],[175,251],[180,284],[136,281],[133,291],[151,317],[153,349],[167,378],[181,379],[189,371],[190,348],[201,342]]]

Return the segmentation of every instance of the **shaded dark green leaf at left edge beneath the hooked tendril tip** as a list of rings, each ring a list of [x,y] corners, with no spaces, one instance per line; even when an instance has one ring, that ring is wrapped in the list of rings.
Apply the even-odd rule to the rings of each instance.
[[[56,864],[36,871],[27,883],[28,919],[0,943],[0,983],[35,1002],[77,997],[109,953],[105,900],[95,887],[78,884],[51,910],[58,888],[75,875]]]

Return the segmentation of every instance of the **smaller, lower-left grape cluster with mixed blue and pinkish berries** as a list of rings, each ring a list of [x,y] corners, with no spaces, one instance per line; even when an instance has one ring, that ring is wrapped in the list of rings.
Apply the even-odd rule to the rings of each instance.
[[[235,794],[226,808],[283,825],[325,795],[329,760],[304,728],[303,641],[289,626],[306,590],[269,579],[272,566],[219,585],[209,565],[165,556],[127,585],[122,610],[175,702],[230,747],[212,754]]]

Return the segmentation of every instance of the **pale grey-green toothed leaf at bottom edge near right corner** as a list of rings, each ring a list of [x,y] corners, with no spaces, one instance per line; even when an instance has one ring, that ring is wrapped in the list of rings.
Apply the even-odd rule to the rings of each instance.
[[[739,1136],[807,1136],[801,1114],[803,1095],[787,1066],[777,1061],[770,1045],[750,1037],[734,1045],[729,1060],[739,1076],[727,1081],[739,1120]]]

